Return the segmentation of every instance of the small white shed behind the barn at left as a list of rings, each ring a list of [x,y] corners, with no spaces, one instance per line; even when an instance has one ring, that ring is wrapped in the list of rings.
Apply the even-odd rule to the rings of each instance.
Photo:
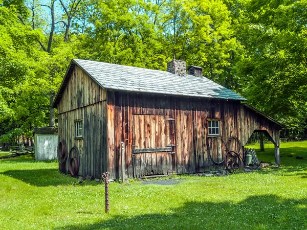
[[[34,128],[34,146],[36,160],[57,159],[57,127]]]

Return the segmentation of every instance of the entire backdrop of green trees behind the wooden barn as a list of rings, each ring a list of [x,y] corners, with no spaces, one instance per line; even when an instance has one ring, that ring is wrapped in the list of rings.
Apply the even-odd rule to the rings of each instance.
[[[0,134],[48,125],[72,58],[164,71],[185,60],[288,128],[306,125],[305,1],[63,1],[68,30],[63,5],[46,4],[0,2]]]

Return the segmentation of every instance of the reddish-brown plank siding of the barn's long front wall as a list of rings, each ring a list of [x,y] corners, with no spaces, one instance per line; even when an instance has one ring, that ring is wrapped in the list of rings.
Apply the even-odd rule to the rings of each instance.
[[[136,122],[133,119],[135,114],[147,116],[139,117]],[[160,119],[157,123],[155,119],[150,120],[148,115],[174,120],[163,119],[162,122]],[[169,174],[170,171],[181,174],[211,170],[215,164],[208,155],[208,147],[214,137],[208,136],[208,119],[221,121],[221,139],[225,142],[234,136],[245,145],[255,130],[266,130],[272,140],[279,143],[277,125],[244,107],[239,101],[108,91],[107,149],[108,171],[111,172],[111,177],[119,178],[121,175],[121,142],[125,144],[126,177],[156,174],[156,171],[158,174]],[[146,131],[147,128],[150,131]],[[140,135],[143,136],[141,139]],[[148,140],[150,143],[155,142],[150,146],[166,147],[174,144],[175,153],[154,152],[144,153],[142,156],[133,153],[133,148],[145,146],[144,143],[148,143]],[[229,142],[228,149],[238,151],[239,148],[238,142],[234,139]],[[212,143],[211,151],[212,157],[218,162],[222,160],[226,148],[218,139]],[[156,157],[152,157],[152,154]],[[152,163],[152,160],[157,162]],[[150,173],[144,165],[146,162],[151,162],[150,164],[155,166],[161,164],[162,169],[153,169]]]

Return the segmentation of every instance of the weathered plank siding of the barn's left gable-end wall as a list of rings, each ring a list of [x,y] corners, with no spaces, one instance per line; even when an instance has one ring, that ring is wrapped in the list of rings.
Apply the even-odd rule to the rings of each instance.
[[[75,66],[63,96],[58,103],[58,135],[67,151],[79,151],[78,175],[100,178],[106,171],[106,90]],[[82,120],[82,138],[76,138],[75,121]],[[61,172],[69,173],[69,162],[59,164]]]

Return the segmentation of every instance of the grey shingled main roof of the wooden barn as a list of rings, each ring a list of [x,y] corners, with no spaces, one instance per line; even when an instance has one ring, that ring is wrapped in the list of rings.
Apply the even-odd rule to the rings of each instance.
[[[73,59],[55,98],[54,107],[60,100],[65,86],[64,82],[69,79],[75,64],[105,89],[247,101],[206,77],[179,76],[165,71]]]

